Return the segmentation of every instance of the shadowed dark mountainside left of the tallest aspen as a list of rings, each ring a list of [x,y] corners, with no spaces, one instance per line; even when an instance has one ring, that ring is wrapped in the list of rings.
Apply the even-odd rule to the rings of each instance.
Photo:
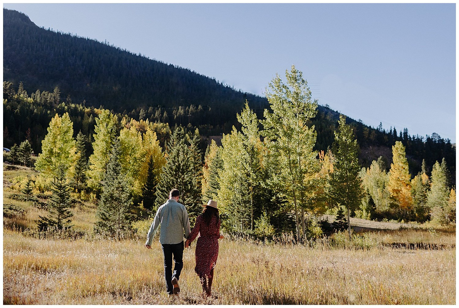
[[[28,91],[59,87],[74,102],[116,112],[142,106],[209,106],[215,123],[246,100],[266,99],[224,86],[213,78],[92,39],[37,27],[22,13],[3,10],[4,79]]]

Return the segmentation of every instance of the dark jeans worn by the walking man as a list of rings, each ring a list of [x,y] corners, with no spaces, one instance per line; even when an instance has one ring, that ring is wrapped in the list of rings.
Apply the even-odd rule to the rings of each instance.
[[[164,255],[164,280],[166,280],[166,291],[169,294],[174,294],[172,291],[172,277],[179,280],[180,272],[183,268],[183,241],[179,244],[161,244],[162,253]],[[174,274],[172,274],[172,256],[174,255]]]

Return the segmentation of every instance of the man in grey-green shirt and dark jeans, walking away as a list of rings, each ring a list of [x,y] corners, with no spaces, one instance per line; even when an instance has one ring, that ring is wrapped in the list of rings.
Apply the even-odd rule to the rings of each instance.
[[[179,278],[183,268],[183,230],[185,237],[190,235],[190,219],[183,204],[179,203],[180,192],[171,190],[169,200],[158,208],[155,220],[148,231],[145,247],[151,249],[153,237],[161,224],[159,242],[164,255],[164,280],[169,295],[180,292]],[[172,256],[174,256],[174,274],[172,274]]]

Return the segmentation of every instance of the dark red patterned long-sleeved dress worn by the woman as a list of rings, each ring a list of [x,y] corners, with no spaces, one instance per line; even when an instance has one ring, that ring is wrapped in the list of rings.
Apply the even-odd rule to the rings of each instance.
[[[188,237],[190,243],[196,238],[198,233],[199,237],[195,250],[195,272],[199,276],[204,276],[209,275],[210,271],[215,267],[215,263],[217,263],[220,220],[217,221],[217,217],[214,216],[210,224],[207,225],[202,215],[198,216],[196,224]]]

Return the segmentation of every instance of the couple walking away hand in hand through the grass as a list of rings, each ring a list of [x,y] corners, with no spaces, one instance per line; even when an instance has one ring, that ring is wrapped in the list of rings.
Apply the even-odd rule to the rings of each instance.
[[[202,285],[203,297],[212,295],[213,268],[217,263],[218,240],[223,239],[220,234],[220,217],[218,215],[217,202],[209,200],[203,205],[204,210],[196,218],[193,230],[190,231],[190,219],[183,204],[179,203],[180,192],[177,189],[171,190],[169,200],[158,208],[155,219],[148,231],[146,248],[151,249],[151,243],[159,225],[161,231],[159,242],[161,243],[164,255],[164,279],[166,280],[166,291],[169,296],[178,295],[180,292],[179,278],[183,268],[183,230],[185,230],[185,248],[196,239],[196,267],[195,272],[199,275]],[[172,259],[174,258],[174,273],[172,272]]]

